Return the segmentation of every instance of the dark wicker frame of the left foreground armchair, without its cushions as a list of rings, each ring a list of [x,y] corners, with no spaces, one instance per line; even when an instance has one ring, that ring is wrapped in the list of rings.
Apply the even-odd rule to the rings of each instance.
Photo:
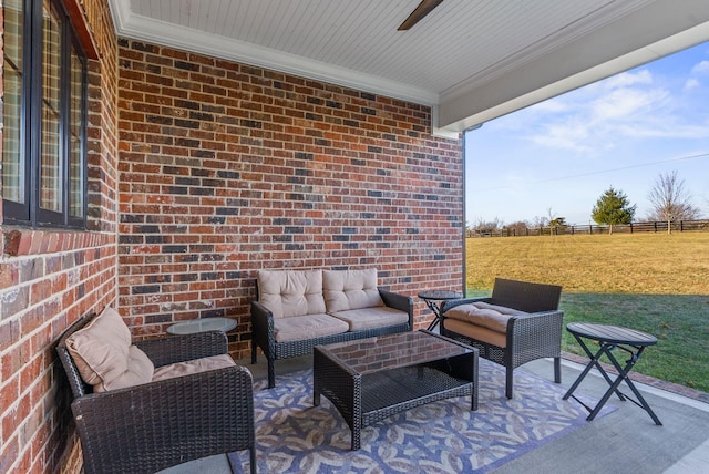
[[[81,440],[84,472],[153,473],[187,461],[250,451],[256,472],[253,381],[233,365],[92,393],[68,348],[74,322],[56,351],[73,392],[71,409]],[[135,342],[155,367],[227,353],[223,332],[201,332]]]

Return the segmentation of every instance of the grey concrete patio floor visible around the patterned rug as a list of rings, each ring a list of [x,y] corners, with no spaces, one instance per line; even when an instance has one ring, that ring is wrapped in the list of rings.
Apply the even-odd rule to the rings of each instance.
[[[651,353],[646,354],[651,357]],[[259,356],[258,363],[250,360],[246,365],[254,379],[266,377],[266,361]],[[276,362],[276,374],[309,368],[311,357]],[[564,359],[562,385],[569,387],[583,365]],[[530,362],[522,370],[551,380],[551,360]],[[680,394],[657,389],[651,384],[635,382],[650,404],[662,426],[657,426],[650,416],[633,402],[621,402],[612,396],[609,405],[616,411],[598,418],[587,425],[554,440],[531,453],[517,457],[493,471],[494,473],[607,473],[643,472],[644,474],[699,474],[709,472],[709,404]],[[599,399],[607,384],[593,370],[577,393]],[[625,383],[620,387],[629,393]],[[210,456],[185,463],[164,474],[210,473],[230,474],[225,455]]]

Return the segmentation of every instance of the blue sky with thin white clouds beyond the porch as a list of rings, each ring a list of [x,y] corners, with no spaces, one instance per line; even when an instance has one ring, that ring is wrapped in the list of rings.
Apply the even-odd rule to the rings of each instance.
[[[590,212],[613,186],[651,210],[676,171],[709,218],[709,43],[495,118],[465,134],[465,220],[502,224]]]

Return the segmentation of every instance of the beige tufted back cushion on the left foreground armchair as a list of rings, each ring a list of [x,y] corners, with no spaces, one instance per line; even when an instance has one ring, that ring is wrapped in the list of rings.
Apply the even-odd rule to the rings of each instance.
[[[153,363],[131,346],[131,331],[110,307],[71,334],[66,349],[81,378],[95,391],[146,383],[153,375]]]

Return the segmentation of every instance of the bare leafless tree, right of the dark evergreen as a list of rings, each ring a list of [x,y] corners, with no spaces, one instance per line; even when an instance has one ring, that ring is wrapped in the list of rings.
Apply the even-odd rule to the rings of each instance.
[[[648,220],[664,220],[667,223],[667,234],[672,233],[676,220],[693,220],[699,216],[699,209],[691,205],[689,193],[685,189],[685,181],[677,177],[677,171],[660,174],[655,181],[648,195],[654,210]]]

